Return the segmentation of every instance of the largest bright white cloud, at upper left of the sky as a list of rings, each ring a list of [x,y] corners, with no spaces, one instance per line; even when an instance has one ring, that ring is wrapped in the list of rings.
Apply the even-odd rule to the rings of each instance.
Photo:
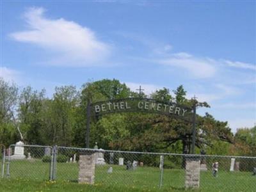
[[[67,66],[96,65],[108,58],[111,47],[95,33],[65,19],[47,19],[44,8],[29,8],[24,14],[27,31],[10,34],[14,40],[38,45],[57,56],[51,64]]]

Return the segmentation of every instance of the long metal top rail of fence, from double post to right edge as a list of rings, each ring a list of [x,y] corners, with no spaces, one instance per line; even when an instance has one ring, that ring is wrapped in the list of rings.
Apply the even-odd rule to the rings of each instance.
[[[57,148],[66,148],[66,149],[75,149],[75,150],[89,150],[95,152],[115,152],[115,153],[126,153],[126,154],[148,154],[148,155],[160,155],[160,156],[186,156],[186,157],[225,157],[225,158],[244,158],[244,159],[256,159],[256,157],[250,156],[218,156],[218,155],[201,155],[201,154],[172,154],[172,153],[159,153],[159,152],[136,152],[136,151],[124,151],[124,150],[103,150],[95,148],[78,148],[78,147],[61,147]]]

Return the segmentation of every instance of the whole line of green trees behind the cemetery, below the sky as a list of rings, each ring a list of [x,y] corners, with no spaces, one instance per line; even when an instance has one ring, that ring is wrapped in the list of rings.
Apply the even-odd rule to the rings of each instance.
[[[45,90],[30,86],[18,90],[15,84],[0,79],[0,143],[8,146],[19,140],[33,145],[85,147],[86,105],[88,100],[147,97],[164,102],[190,105],[186,90],[179,86],[145,93],[132,92],[124,83],[103,79],[75,86],[55,88],[52,98]],[[196,101],[198,108],[209,105]],[[196,152],[207,154],[256,155],[256,127],[238,129],[232,134],[227,122],[209,113],[197,115]],[[115,113],[91,122],[90,147],[97,141],[100,148],[143,152],[191,152],[191,124],[164,115]]]

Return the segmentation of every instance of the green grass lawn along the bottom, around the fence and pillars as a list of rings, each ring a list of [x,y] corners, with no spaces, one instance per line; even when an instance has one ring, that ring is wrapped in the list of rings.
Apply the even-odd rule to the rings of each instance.
[[[49,182],[49,163],[11,161],[10,179],[0,180],[0,191],[159,191],[160,170],[138,167],[125,170],[113,165],[96,166],[95,185],[77,184],[78,164],[58,163],[56,182]],[[185,172],[181,169],[164,169],[160,191],[185,191]],[[256,191],[256,177],[250,172],[220,171],[213,177],[211,171],[200,172],[200,188],[196,191]]]

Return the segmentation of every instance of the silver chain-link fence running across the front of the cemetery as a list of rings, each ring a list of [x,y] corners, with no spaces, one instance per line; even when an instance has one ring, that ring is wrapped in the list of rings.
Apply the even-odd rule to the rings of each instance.
[[[125,152],[73,147],[11,145],[6,176],[79,182],[79,159],[94,154],[95,184],[141,189],[256,191],[256,157]],[[20,152],[20,153],[19,153]],[[255,173],[256,174],[256,173]]]

